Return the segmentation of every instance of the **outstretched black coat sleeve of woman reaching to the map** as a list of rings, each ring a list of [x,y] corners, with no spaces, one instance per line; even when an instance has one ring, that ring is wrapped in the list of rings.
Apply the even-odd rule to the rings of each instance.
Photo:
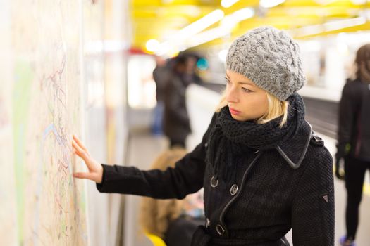
[[[215,118],[215,117],[214,117]],[[214,118],[212,122],[214,122]],[[185,198],[203,187],[206,167],[206,141],[211,125],[202,143],[166,171],[142,171],[136,167],[103,165],[103,181],[97,184],[101,193],[144,195],[152,198]]]

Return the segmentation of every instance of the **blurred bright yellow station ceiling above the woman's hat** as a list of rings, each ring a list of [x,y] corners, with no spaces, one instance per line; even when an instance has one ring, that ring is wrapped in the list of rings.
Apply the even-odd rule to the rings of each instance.
[[[229,8],[221,0],[131,0],[132,46],[146,50],[149,39],[166,41],[183,27],[221,9],[225,16],[242,8],[252,8],[254,16],[240,21],[230,30],[233,39],[261,25],[290,30],[295,38],[307,38],[338,32],[370,30],[370,1],[360,0],[286,0],[272,8],[261,8],[257,0],[240,0]],[[338,22],[352,19],[353,22]],[[351,21],[352,21],[351,20]],[[337,22],[338,25],[323,25]],[[208,27],[218,27],[220,21]],[[208,41],[200,47],[220,44],[225,37]],[[199,47],[199,46],[198,46]]]

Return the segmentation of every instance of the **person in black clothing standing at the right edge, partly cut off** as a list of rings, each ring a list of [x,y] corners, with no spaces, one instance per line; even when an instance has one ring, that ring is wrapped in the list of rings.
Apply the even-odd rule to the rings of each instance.
[[[370,44],[360,47],[355,60],[356,78],[347,79],[339,104],[339,128],[335,175],[345,179],[347,235],[341,245],[354,245],[359,204],[366,170],[370,169]],[[344,173],[341,168],[344,161]]]

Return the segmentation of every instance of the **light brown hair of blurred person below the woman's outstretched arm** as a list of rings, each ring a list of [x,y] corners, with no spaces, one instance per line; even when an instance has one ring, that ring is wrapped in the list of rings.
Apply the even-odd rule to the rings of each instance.
[[[161,153],[154,160],[151,169],[166,170],[174,167],[175,162],[186,154],[183,148],[172,148]],[[183,200],[166,199],[156,200],[153,198],[142,198],[140,225],[144,233],[151,233],[164,238],[168,224],[180,216],[183,209]]]

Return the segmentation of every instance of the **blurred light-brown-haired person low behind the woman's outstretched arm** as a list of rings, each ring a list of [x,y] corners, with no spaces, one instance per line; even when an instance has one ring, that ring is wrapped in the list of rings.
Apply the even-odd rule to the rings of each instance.
[[[165,171],[186,155],[183,148],[165,150],[152,164],[152,169]],[[204,224],[202,190],[184,200],[142,198],[140,212],[142,231],[158,236],[167,246],[188,246],[197,226]]]

